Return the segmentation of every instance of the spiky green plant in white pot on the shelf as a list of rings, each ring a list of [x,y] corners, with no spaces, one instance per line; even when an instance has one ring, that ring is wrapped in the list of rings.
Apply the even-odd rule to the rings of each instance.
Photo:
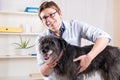
[[[34,44],[29,45],[29,43],[30,43],[30,39],[23,40],[22,37],[20,36],[20,42],[19,43],[13,43],[13,44],[15,44],[17,46],[16,49],[20,50],[19,52],[21,53],[21,55],[28,55],[29,54],[28,49],[35,46]]]

